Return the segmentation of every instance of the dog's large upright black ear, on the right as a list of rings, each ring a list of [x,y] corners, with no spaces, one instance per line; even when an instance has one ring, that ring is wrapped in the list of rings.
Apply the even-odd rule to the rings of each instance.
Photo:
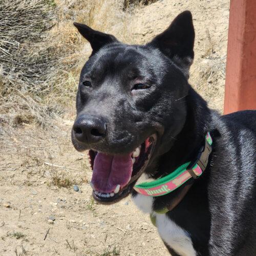
[[[192,15],[189,11],[184,11],[148,45],[158,48],[162,53],[172,58],[188,74],[194,59],[194,41],[195,30]]]

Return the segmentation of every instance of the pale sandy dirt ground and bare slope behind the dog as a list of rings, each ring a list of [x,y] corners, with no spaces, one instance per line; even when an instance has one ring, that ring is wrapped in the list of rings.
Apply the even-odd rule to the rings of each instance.
[[[223,0],[160,0],[131,15],[131,40],[143,43],[179,12],[193,13],[196,57],[190,83],[220,112],[228,8]],[[86,152],[76,152],[70,141],[74,117],[71,109],[49,129],[1,124],[0,255],[168,255],[150,218],[130,197],[111,206],[93,202]]]

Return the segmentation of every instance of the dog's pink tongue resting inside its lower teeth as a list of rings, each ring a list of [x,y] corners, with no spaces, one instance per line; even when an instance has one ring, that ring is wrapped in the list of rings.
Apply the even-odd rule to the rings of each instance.
[[[131,154],[110,156],[98,153],[94,160],[92,183],[97,191],[111,193],[119,184],[124,187],[133,172]]]

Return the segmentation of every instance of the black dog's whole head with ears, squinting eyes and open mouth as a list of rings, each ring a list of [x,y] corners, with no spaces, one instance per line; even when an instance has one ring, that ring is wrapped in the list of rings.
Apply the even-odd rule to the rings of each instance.
[[[93,197],[116,202],[182,130],[194,58],[192,17],[181,13],[141,46],[74,25],[93,51],[80,75],[72,142],[78,151],[90,150]]]

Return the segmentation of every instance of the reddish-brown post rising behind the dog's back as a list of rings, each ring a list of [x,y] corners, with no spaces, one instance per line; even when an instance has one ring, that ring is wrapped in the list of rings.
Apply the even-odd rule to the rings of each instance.
[[[256,109],[256,0],[230,0],[224,114]]]

